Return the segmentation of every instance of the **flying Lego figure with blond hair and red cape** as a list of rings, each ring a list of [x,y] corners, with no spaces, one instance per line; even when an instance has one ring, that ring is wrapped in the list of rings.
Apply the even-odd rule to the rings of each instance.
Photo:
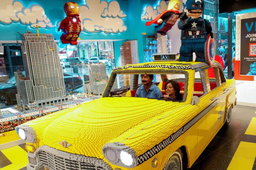
[[[167,31],[171,30],[172,26],[174,26],[177,19],[180,17],[180,5],[180,0],[170,0],[167,10],[163,11],[163,13],[152,21],[146,22],[146,26],[150,26],[152,23],[158,25],[164,21],[165,25],[157,32],[163,36],[166,35]]]

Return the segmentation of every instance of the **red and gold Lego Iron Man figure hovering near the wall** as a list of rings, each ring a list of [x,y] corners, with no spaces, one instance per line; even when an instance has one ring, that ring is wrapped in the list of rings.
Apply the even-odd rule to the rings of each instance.
[[[59,31],[62,30],[61,42],[63,44],[70,43],[77,45],[77,38],[81,32],[81,21],[79,19],[79,6],[75,2],[67,2],[64,5],[64,11],[67,15],[61,21]]]

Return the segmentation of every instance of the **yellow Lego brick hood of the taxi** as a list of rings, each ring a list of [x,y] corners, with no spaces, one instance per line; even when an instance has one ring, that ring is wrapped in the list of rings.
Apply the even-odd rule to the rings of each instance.
[[[179,102],[169,103],[173,103],[173,108],[180,107]],[[76,108],[65,109],[66,113],[48,125],[42,123],[39,127],[35,123],[37,127],[34,130],[40,146],[47,145],[69,153],[103,159],[102,147],[106,143],[163,114],[166,104],[163,100],[147,98],[100,98]],[[38,122],[47,122],[48,116],[42,117],[44,120],[38,119]],[[30,126],[33,127],[33,124]],[[59,142],[64,140],[71,146],[63,147]]]

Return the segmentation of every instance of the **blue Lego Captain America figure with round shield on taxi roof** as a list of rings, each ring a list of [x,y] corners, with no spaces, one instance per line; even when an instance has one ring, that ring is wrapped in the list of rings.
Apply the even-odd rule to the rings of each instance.
[[[200,17],[204,10],[204,0],[183,0],[182,5],[183,13],[178,22],[178,28],[182,30],[179,61],[193,61],[193,52],[195,52],[196,62],[208,64],[214,62],[215,43],[212,39],[212,27],[208,20]],[[210,56],[205,56],[207,52]]]

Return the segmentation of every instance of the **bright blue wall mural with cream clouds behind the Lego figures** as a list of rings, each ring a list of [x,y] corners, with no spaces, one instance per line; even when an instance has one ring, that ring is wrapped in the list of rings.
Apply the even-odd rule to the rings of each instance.
[[[72,1],[80,6],[81,40],[137,39],[140,62],[143,62],[145,47],[145,35],[142,33],[154,34],[153,25],[145,26],[145,22],[151,19],[150,10],[157,15],[167,8],[164,0]],[[41,34],[53,34],[59,40],[62,32],[58,28],[65,18],[65,2],[66,0],[4,0],[0,6],[0,41],[21,40],[20,34],[16,32],[23,34],[28,30],[36,33],[36,25]],[[117,47],[121,43],[114,44],[115,53],[119,54]]]

